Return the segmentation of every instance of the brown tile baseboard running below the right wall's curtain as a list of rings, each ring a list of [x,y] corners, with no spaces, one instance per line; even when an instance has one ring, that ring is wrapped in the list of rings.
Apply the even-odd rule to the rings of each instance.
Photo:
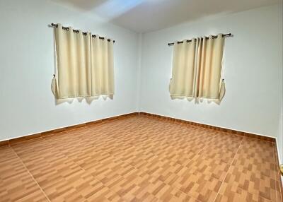
[[[144,115],[144,116],[149,116],[149,117],[158,117],[160,119],[177,121],[177,122],[180,122],[180,123],[190,124],[190,125],[193,125],[193,126],[201,126],[201,127],[207,128],[207,129],[213,129],[213,130],[216,130],[216,131],[233,133],[233,134],[237,134],[237,135],[240,135],[240,136],[246,136],[246,137],[249,137],[249,138],[256,138],[256,139],[260,139],[262,141],[269,141],[269,142],[272,142],[272,143],[276,142],[275,138],[267,137],[267,136],[260,136],[260,135],[253,134],[253,133],[246,133],[246,132],[236,131],[236,130],[232,130],[232,129],[225,129],[225,128],[221,128],[221,127],[217,127],[217,126],[210,126],[210,125],[207,125],[207,124],[199,124],[199,123],[192,122],[192,121],[185,121],[183,119],[175,119],[175,118],[171,118],[171,117],[164,117],[164,116],[161,116],[161,115],[150,114],[150,113],[146,113],[146,112],[139,112],[139,114]]]

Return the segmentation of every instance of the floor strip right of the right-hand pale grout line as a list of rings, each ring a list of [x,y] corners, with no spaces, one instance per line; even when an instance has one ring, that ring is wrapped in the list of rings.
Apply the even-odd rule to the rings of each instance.
[[[273,147],[243,138],[216,201],[279,201]]]

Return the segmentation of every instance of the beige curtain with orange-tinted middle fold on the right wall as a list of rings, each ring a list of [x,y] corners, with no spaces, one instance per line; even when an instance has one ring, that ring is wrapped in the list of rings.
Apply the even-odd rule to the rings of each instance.
[[[224,37],[212,35],[175,42],[173,71],[169,87],[172,98],[207,98],[221,101],[225,93],[221,81]]]

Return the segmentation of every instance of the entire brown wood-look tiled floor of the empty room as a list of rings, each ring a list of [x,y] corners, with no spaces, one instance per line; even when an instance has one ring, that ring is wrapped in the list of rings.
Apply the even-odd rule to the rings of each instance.
[[[129,117],[0,148],[0,201],[282,201],[275,145]]]

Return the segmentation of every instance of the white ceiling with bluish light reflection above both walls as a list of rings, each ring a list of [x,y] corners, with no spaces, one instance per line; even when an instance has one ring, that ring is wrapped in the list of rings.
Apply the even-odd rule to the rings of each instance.
[[[52,0],[135,32],[277,4],[278,0]]]

